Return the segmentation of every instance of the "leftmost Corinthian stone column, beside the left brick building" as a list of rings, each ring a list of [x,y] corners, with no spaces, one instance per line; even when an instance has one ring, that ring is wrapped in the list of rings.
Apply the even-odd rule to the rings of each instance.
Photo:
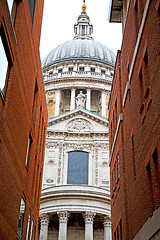
[[[49,224],[49,217],[47,214],[40,215],[41,221],[41,229],[40,229],[40,240],[47,240],[48,239],[48,224]]]

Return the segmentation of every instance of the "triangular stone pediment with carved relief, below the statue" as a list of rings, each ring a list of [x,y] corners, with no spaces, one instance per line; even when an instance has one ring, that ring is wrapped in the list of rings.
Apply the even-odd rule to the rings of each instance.
[[[85,109],[75,109],[51,118],[48,131],[90,133],[108,133],[108,120]]]

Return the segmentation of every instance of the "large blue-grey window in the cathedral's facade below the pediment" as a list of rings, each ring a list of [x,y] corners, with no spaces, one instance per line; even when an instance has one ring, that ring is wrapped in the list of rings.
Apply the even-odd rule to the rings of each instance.
[[[88,184],[88,159],[87,152],[68,153],[67,184]]]

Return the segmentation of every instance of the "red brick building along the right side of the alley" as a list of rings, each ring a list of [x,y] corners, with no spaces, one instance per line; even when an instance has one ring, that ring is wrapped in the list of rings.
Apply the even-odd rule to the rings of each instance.
[[[160,239],[160,1],[111,1],[122,22],[110,97],[114,240]]]

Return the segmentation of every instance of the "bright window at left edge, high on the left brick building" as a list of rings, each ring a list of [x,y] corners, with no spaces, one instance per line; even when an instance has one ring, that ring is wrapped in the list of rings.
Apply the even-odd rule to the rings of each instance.
[[[0,29],[0,95],[5,100],[12,60],[3,28]]]

